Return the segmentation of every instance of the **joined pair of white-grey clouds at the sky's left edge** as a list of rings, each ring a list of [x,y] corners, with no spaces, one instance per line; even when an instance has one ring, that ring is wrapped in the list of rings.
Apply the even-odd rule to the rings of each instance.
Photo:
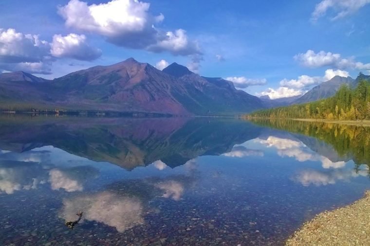
[[[101,50],[91,47],[85,35],[54,35],[52,43],[38,35],[0,29],[0,70],[51,74],[56,58],[93,60]]]

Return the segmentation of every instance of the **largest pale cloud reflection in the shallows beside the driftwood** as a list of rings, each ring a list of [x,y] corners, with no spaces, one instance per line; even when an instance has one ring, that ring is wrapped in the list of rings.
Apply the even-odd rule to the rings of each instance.
[[[84,219],[104,223],[119,232],[144,223],[143,204],[139,199],[111,192],[64,199],[60,217],[73,221],[78,211],[84,212]]]

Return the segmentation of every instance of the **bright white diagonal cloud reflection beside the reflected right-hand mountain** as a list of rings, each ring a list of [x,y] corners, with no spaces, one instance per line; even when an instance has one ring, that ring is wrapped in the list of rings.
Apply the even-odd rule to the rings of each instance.
[[[313,152],[309,147],[300,141],[270,136],[267,138],[267,140],[259,140],[259,143],[262,143],[267,147],[275,147],[277,149],[277,155],[280,157],[291,157],[300,162],[308,160],[320,161],[322,167],[325,169],[343,168],[346,165],[345,161],[333,162],[329,158]]]

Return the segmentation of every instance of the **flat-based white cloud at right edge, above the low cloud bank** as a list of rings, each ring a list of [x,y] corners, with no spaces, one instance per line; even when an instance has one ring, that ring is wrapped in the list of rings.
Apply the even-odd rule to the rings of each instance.
[[[356,62],[353,57],[342,58],[338,53],[325,51],[315,53],[308,50],[306,53],[296,54],[294,59],[308,68],[332,66],[338,69],[370,70],[370,63]]]

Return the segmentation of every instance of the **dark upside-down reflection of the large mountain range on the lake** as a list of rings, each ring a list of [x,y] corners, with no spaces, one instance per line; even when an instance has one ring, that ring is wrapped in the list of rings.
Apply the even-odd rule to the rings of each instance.
[[[260,127],[233,119],[9,117],[0,121],[0,149],[25,152],[52,145],[126,169],[162,160],[184,164],[221,155],[259,136]]]

